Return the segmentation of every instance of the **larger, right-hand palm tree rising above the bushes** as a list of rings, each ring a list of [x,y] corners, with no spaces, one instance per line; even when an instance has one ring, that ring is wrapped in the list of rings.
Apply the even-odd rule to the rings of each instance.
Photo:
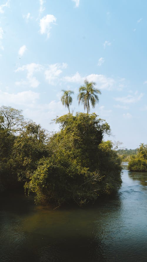
[[[94,88],[95,85],[95,82],[88,82],[85,80],[84,85],[79,88],[78,104],[80,104],[80,102],[84,104],[84,110],[87,109],[87,114],[90,112],[89,102],[91,102],[91,105],[94,108],[99,101],[97,94],[101,94],[101,91],[98,88]]]

